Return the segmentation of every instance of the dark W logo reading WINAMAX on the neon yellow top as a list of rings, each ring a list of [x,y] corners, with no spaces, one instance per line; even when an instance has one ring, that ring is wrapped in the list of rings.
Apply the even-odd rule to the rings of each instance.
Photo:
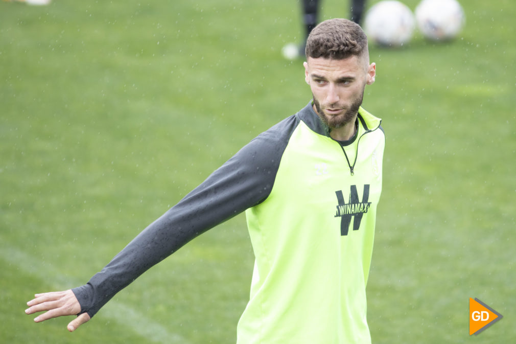
[[[335,191],[337,195],[337,212],[335,217],[341,217],[341,236],[347,236],[349,231],[349,225],[351,224],[351,217],[354,216],[353,230],[360,228],[360,222],[362,222],[362,216],[369,210],[371,202],[369,200],[369,184],[364,185],[364,193],[362,194],[362,201],[358,198],[357,185],[351,185],[349,191],[349,201],[344,201],[342,191]]]

